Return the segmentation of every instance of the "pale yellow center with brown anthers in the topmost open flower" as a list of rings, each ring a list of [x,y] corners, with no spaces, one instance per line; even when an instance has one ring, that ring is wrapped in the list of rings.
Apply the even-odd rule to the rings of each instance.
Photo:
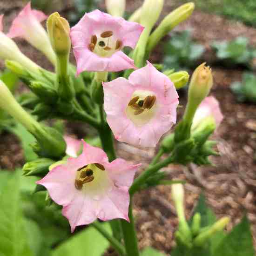
[[[115,37],[113,31],[104,31],[101,34],[91,36],[88,48],[100,57],[110,57],[122,47],[122,41]]]

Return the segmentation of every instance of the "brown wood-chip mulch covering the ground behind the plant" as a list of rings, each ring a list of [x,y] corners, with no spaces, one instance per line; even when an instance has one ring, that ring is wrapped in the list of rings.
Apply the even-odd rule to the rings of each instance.
[[[175,1],[175,4],[178,1]],[[140,6],[141,1],[129,1],[129,11]],[[1,1],[0,13],[5,13],[5,32],[22,6],[22,1]],[[173,9],[174,5],[167,4],[165,14]],[[65,9],[65,7],[63,7]],[[229,89],[233,81],[241,80],[243,69],[217,66],[215,56],[210,48],[212,40],[231,40],[238,35],[249,38],[250,43],[256,43],[256,29],[247,27],[239,22],[225,20],[220,16],[202,13],[195,10],[191,18],[175,28],[183,30],[193,29],[195,40],[206,47],[203,60],[212,66],[215,84],[211,94],[219,101],[222,113],[225,116],[213,139],[218,141],[217,149],[220,156],[211,157],[215,166],[197,167],[190,164],[188,167],[169,165],[164,168],[170,178],[179,178],[187,181],[186,214],[189,217],[195,206],[199,194],[204,191],[210,207],[218,217],[229,216],[230,230],[239,222],[246,212],[251,222],[251,231],[256,245],[256,106],[238,103]],[[23,40],[17,40],[21,50],[31,59],[43,67],[50,64],[41,54],[30,47]],[[162,47],[156,49],[150,57],[151,61],[161,61]],[[3,63],[0,62],[0,67]],[[181,104],[186,103],[186,97],[180,95]],[[178,117],[182,116],[183,109],[179,108]],[[69,132],[76,135],[85,135],[80,129],[69,128]],[[79,134],[78,134],[78,133]],[[139,149],[116,142],[117,155],[135,163],[142,162],[140,171],[147,167],[155,149]],[[14,135],[3,133],[0,135],[0,168],[20,167],[24,163],[22,149]],[[174,246],[174,231],[177,226],[175,209],[172,205],[171,190],[168,186],[158,186],[135,195],[134,214],[140,248],[153,246],[162,252],[171,252]],[[114,255],[109,252],[108,255]]]

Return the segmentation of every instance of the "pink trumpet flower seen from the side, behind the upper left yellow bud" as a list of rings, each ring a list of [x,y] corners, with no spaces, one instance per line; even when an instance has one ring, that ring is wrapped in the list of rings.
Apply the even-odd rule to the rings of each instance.
[[[46,54],[47,58],[54,63],[55,54],[47,36],[46,30],[40,22],[47,19],[43,12],[32,10],[30,2],[23,8],[13,20],[7,36],[10,38],[22,37],[35,48]]]

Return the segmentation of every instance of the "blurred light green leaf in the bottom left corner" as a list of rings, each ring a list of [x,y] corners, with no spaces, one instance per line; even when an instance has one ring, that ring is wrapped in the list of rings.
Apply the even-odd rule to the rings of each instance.
[[[6,175],[0,191],[0,256],[33,256],[20,209],[20,175]]]

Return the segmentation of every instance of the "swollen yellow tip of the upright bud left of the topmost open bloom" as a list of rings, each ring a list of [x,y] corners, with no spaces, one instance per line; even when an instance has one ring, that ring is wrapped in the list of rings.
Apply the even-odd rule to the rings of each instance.
[[[55,53],[69,54],[71,47],[69,23],[58,12],[51,14],[47,19],[47,32]]]

